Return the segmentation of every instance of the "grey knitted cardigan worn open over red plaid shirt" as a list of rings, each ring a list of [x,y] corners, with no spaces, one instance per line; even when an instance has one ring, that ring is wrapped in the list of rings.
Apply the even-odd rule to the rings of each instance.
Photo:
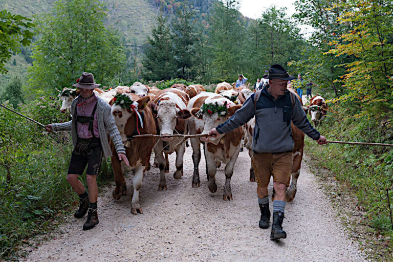
[[[77,100],[78,99],[74,99],[71,103],[71,115],[73,116],[72,120],[64,123],[52,124],[52,129],[55,131],[71,131],[72,143],[74,147],[76,146],[76,143],[78,141],[77,122],[74,118]],[[111,106],[107,102],[105,102],[99,97],[97,98],[98,132],[100,133],[101,146],[105,158],[112,156],[112,150],[109,146],[106,134],[109,134],[109,136],[111,137],[111,140],[116,148],[116,152],[118,154],[125,154],[123,142],[121,140],[119,130],[116,126],[115,119],[112,116],[111,109]]]

